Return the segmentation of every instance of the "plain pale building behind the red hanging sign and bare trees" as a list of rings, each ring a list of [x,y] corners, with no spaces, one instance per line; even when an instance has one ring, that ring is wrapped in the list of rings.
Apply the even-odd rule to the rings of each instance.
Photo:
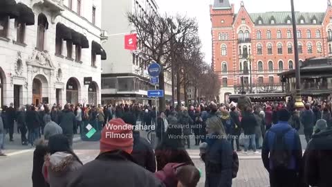
[[[103,44],[109,52],[102,64],[102,103],[143,103],[152,104],[147,90],[154,89],[147,75],[149,64],[143,63],[142,56],[135,51],[124,49],[124,35],[134,30],[127,19],[127,12],[158,14],[154,0],[103,0],[102,28],[107,30],[109,39]],[[142,43],[138,39],[138,50]],[[170,73],[165,73],[165,95],[172,95]]]

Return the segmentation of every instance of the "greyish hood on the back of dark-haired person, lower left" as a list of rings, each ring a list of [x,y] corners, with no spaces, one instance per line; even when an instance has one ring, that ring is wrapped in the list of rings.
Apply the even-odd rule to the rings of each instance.
[[[53,172],[64,172],[75,161],[73,154],[66,152],[55,152],[45,156],[46,166]]]

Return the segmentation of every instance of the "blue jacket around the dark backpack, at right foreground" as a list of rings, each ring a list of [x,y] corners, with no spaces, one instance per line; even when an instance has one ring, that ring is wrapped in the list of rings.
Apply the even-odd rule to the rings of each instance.
[[[282,132],[286,128],[291,127],[286,121],[279,121],[276,125],[273,125],[268,132],[263,141],[263,148],[261,150],[261,159],[263,160],[264,167],[266,170],[273,170],[272,161],[270,161],[269,153],[273,150],[273,143],[275,141],[275,132]],[[291,162],[288,166],[288,170],[297,170],[301,167],[302,163],[302,146],[299,140],[299,134],[295,129],[289,130],[284,136],[286,136],[286,144],[290,145],[291,150],[293,150],[293,156]]]

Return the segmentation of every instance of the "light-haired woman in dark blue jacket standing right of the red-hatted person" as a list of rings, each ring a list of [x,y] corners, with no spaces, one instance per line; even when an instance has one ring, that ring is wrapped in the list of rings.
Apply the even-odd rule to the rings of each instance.
[[[201,143],[201,159],[205,163],[205,187],[232,186],[232,145],[226,139],[223,122],[212,116],[206,123],[206,143]]]

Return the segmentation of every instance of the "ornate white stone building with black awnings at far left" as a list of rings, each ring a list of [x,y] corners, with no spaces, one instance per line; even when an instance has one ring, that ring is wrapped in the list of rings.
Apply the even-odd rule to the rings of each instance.
[[[100,103],[101,0],[0,6],[0,106]]]

